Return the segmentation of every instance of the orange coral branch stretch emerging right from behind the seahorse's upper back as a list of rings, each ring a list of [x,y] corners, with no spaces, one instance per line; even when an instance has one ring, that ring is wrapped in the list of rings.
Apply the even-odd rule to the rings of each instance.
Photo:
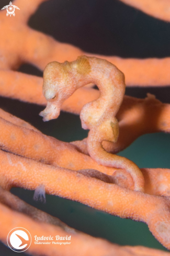
[[[133,58],[123,59],[114,56],[106,57],[96,54],[95,56],[114,63],[124,73],[127,86],[167,86],[170,84],[170,75],[167,72],[170,62],[168,57],[142,60]]]

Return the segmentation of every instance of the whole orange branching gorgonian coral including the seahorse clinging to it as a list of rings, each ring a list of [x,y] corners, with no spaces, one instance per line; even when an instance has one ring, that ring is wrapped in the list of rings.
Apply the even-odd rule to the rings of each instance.
[[[9,231],[24,225],[32,238],[55,237],[56,233],[72,237],[69,246],[32,242],[28,249],[32,255],[169,255],[90,237],[9,192],[12,187],[22,187],[35,191],[34,198],[42,201],[45,193],[58,195],[111,215],[143,221],[170,249],[170,170],[140,169],[116,155],[145,133],[169,132],[169,104],[152,94],[145,99],[124,96],[125,84],[169,85],[169,58],[109,57],[56,41],[27,25],[42,2],[45,0],[16,0],[13,4],[20,11],[15,18],[6,17],[6,9],[0,13],[0,95],[47,104],[41,112],[45,121],[57,118],[60,110],[80,114],[82,127],[89,132],[82,141],[62,142],[0,109],[1,241],[6,244]],[[122,2],[168,20],[166,0]],[[43,79],[15,71],[24,62],[41,70],[46,67]],[[94,84],[99,91],[92,88]]]

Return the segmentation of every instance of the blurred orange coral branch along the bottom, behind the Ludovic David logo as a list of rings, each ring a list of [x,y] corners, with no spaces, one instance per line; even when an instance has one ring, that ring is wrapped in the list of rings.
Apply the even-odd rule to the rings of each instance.
[[[71,242],[69,246],[59,245],[56,247],[55,244],[43,244],[43,246],[38,246],[35,243],[31,243],[28,252],[31,254],[43,254],[46,256],[59,256],[59,255],[80,255],[81,256],[103,256],[103,255],[115,255],[115,256],[139,256],[141,252],[143,255],[150,256],[169,256],[168,252],[163,252],[160,250],[144,248],[144,247],[130,247],[130,246],[117,246],[107,242],[106,240],[100,238],[93,238],[83,233],[73,233],[71,230],[65,231],[60,227],[53,226],[50,224],[38,223],[29,217],[14,212],[8,207],[0,204],[0,216],[4,221],[1,224],[0,238],[6,243],[6,237],[8,232],[15,228],[20,227],[25,224],[25,228],[29,230],[31,236],[34,238],[42,237],[53,237],[55,239],[56,234],[61,237],[71,236]],[[13,219],[15,218],[15,224]],[[54,241],[54,240],[53,240]]]

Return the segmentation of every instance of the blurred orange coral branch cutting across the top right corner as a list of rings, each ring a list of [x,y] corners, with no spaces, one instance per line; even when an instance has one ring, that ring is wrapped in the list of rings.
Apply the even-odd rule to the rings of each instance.
[[[170,3],[168,0],[120,0],[152,17],[170,21]]]

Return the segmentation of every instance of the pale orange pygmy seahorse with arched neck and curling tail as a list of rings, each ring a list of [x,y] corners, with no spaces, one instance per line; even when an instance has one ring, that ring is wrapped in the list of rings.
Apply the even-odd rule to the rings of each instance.
[[[95,83],[100,96],[87,103],[81,110],[81,121],[84,129],[89,129],[87,147],[90,157],[97,163],[123,169],[114,176],[130,173],[134,190],[144,190],[143,175],[132,161],[110,154],[102,147],[103,141],[116,142],[119,125],[116,114],[120,108],[125,91],[124,74],[107,60],[80,56],[76,61],[59,63],[51,62],[43,74],[43,95],[47,107],[40,113],[44,121],[57,118],[63,102],[78,88]]]

